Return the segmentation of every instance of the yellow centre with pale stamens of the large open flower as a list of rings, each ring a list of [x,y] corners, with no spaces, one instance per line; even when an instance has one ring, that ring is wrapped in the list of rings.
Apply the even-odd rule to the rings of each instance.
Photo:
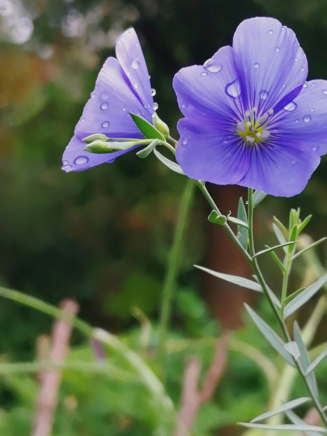
[[[256,116],[256,108],[245,112],[243,121],[236,123],[237,133],[242,136],[244,141],[249,145],[254,145],[259,142],[264,142],[270,136],[266,129],[267,120],[273,115],[273,109],[264,113],[262,116]]]

